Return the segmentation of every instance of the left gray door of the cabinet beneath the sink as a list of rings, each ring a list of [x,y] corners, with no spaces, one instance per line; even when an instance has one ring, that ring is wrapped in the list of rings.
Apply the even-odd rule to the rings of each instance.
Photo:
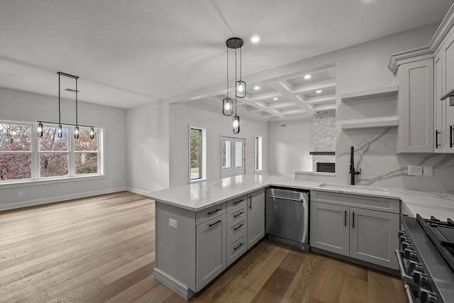
[[[312,247],[328,250],[339,255],[349,255],[347,206],[311,202],[311,238]]]

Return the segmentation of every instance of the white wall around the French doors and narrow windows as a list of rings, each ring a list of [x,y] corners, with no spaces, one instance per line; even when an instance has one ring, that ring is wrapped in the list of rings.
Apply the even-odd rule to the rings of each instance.
[[[188,128],[206,128],[206,178],[221,177],[221,135],[246,139],[246,173],[254,173],[255,136],[262,137],[263,172],[267,172],[267,123],[240,116],[240,133],[232,133],[232,117],[222,115],[221,101],[218,107],[200,102],[170,104],[170,187],[188,183],[189,136]]]

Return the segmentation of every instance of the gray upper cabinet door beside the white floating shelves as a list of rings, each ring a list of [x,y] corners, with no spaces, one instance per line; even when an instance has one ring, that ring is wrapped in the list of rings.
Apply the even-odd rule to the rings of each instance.
[[[433,153],[433,58],[399,66],[398,153]]]

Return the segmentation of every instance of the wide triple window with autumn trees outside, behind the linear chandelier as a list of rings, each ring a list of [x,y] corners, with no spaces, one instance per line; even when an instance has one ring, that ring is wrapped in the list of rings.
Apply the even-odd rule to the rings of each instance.
[[[45,125],[41,137],[36,130],[32,123],[0,121],[0,183],[102,174],[101,129],[93,140],[88,128],[80,128],[78,139],[67,126],[62,138],[55,125]]]

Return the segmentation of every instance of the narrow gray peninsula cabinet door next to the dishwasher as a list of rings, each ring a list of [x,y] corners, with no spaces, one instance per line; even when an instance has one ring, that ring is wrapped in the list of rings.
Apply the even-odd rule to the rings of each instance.
[[[265,191],[248,194],[248,249],[265,236]]]

